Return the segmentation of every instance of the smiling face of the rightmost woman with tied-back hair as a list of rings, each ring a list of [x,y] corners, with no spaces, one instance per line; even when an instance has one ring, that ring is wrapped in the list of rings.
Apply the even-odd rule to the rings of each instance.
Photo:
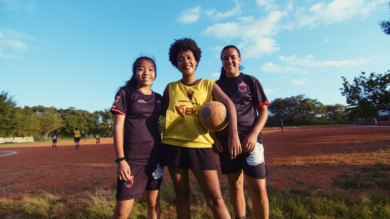
[[[240,75],[239,65],[241,64],[241,57],[234,48],[225,49],[222,52],[222,65],[226,71],[228,78],[237,77]]]

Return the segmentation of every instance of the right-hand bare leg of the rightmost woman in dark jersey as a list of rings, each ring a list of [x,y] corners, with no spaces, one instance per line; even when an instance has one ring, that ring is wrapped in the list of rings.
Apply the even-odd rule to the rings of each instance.
[[[250,193],[252,195],[252,208],[256,219],[266,218],[270,215],[266,179],[253,179],[246,176]]]

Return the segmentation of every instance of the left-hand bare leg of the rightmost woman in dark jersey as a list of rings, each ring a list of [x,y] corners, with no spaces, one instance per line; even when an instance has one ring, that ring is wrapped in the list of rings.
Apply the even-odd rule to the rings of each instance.
[[[243,217],[245,211],[244,174],[241,171],[226,175],[229,181],[230,202],[233,206],[234,216]]]

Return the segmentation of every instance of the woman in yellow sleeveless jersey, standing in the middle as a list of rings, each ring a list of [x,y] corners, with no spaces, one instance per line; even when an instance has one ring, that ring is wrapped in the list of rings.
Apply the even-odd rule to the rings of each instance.
[[[223,202],[213,153],[213,139],[199,122],[201,107],[215,98],[227,107],[229,118],[229,152],[234,159],[241,153],[234,104],[213,80],[195,78],[201,49],[190,38],[175,40],[169,48],[169,60],[180,70],[182,78],[169,83],[164,91],[162,110],[166,110],[166,128],[160,150],[160,165],[167,166],[176,194],[179,219],[190,218],[189,179],[198,180],[206,203],[215,218],[230,218]]]

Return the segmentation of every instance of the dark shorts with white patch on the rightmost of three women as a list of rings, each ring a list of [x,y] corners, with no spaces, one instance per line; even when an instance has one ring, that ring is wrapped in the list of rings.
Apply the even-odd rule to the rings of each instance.
[[[263,144],[257,143],[253,152],[239,154],[236,159],[230,160],[227,145],[223,145],[224,152],[219,154],[219,163],[222,174],[232,174],[243,170],[245,175],[253,179],[266,179],[268,168],[264,161]]]

